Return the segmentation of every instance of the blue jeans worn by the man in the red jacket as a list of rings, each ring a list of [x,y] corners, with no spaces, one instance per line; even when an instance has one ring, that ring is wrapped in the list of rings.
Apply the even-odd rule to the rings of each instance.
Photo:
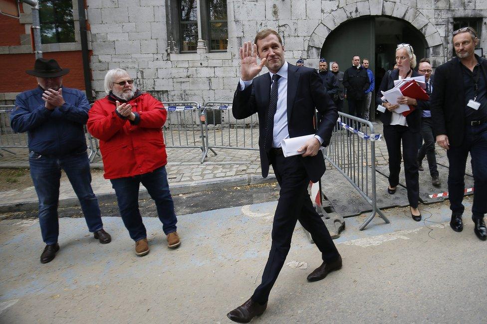
[[[156,203],[157,214],[162,222],[162,230],[167,235],[176,231],[178,219],[174,213],[174,202],[169,192],[166,167],[141,175],[111,179],[118,200],[118,208],[123,223],[134,241],[147,237],[139,210],[139,187],[142,183]]]

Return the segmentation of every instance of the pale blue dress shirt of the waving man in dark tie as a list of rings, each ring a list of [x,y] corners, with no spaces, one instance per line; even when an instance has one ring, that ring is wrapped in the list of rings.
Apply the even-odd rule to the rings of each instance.
[[[281,66],[276,74],[280,76],[278,81],[279,88],[277,89],[277,110],[274,115],[274,132],[273,132],[273,148],[280,148],[282,140],[289,138],[289,131],[287,129],[287,61]],[[269,72],[270,79],[274,73]],[[272,82],[272,81],[271,81]],[[273,83],[273,82],[272,82]],[[252,84],[252,80],[243,81],[240,79],[240,90],[244,90],[246,87]],[[270,85],[272,91],[273,84]],[[323,140],[318,136],[314,136],[320,144]]]

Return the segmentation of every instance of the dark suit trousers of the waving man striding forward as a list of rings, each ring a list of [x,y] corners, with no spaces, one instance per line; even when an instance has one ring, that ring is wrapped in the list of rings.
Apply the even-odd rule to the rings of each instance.
[[[309,178],[301,156],[284,158],[282,153],[271,153],[269,161],[281,189],[272,224],[269,258],[262,273],[262,282],[252,295],[252,300],[259,304],[267,302],[284,265],[297,220],[311,234],[323,261],[331,262],[339,256],[328,229],[311,203],[307,190]]]

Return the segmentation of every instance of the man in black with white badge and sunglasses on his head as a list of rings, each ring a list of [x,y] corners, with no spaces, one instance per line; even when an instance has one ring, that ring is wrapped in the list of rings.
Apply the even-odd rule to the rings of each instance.
[[[448,150],[448,192],[456,232],[463,230],[462,200],[465,192],[467,157],[472,157],[474,172],[474,232],[487,239],[484,215],[487,212],[487,61],[474,54],[479,43],[472,27],[453,33],[457,57],[435,71],[431,97],[433,129],[437,143]]]

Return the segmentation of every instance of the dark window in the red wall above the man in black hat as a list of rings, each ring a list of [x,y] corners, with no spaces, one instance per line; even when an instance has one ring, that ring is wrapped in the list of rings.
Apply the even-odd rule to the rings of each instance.
[[[43,44],[76,41],[71,0],[40,0],[39,19]]]

